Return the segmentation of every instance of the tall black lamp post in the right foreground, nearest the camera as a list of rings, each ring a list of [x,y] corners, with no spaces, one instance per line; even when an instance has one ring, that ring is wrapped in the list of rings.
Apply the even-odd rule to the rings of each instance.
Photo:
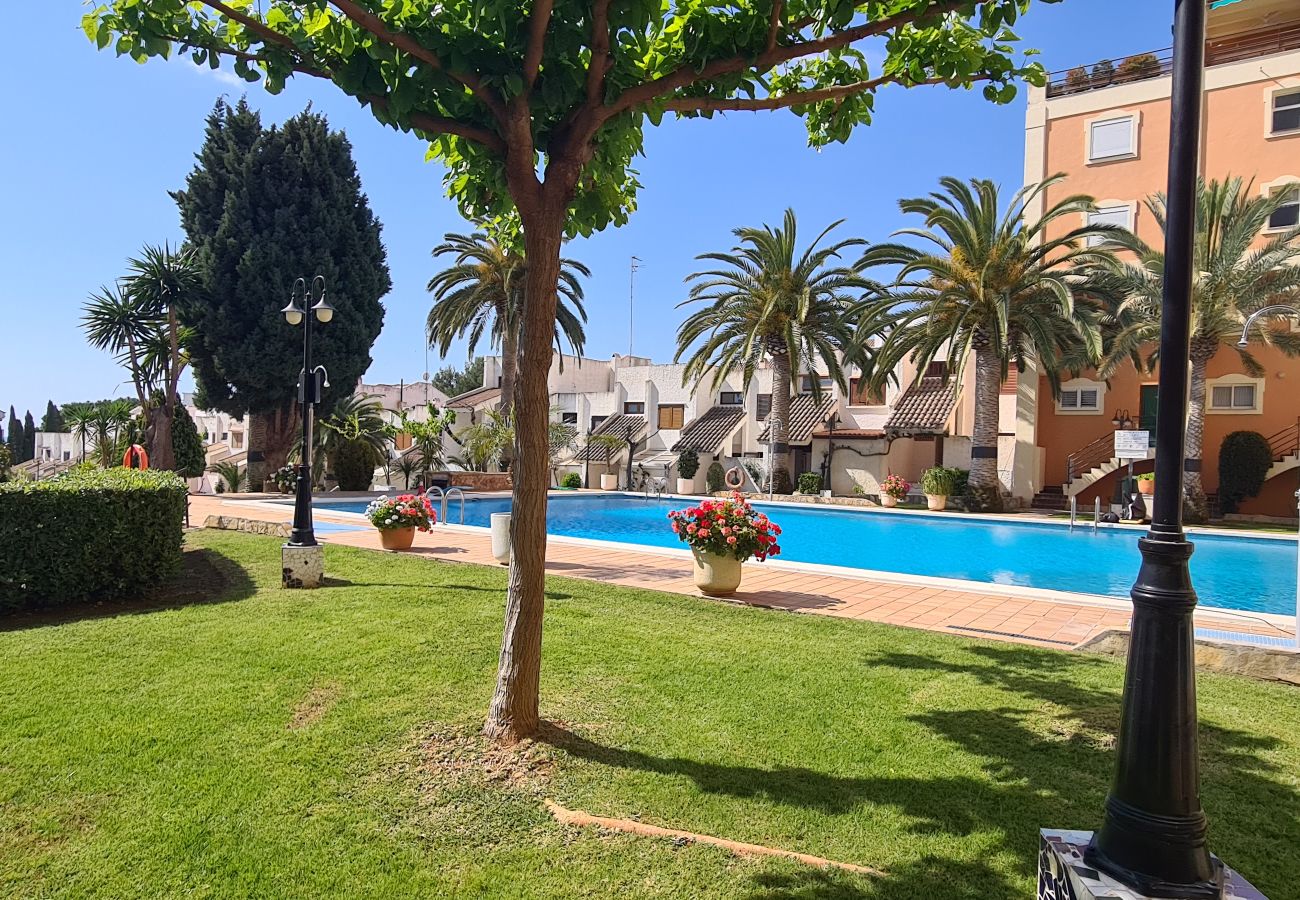
[[[1132,635],[1124,670],[1115,779],[1087,861],[1144,895],[1221,897],[1222,865],[1210,856],[1200,800],[1193,661],[1192,545],[1183,533],[1183,457],[1191,337],[1192,242],[1205,0],[1175,0],[1170,101],[1165,295],[1160,328],[1156,497],[1138,545]]]

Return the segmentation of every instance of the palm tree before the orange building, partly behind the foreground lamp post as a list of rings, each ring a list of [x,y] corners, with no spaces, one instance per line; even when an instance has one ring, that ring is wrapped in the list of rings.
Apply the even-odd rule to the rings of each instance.
[[[1286,202],[1284,194],[1257,195],[1252,185],[1240,178],[1201,181],[1196,187],[1196,241],[1192,250],[1192,337],[1190,406],[1183,453],[1200,460],[1205,440],[1205,369],[1223,345],[1242,358],[1242,367],[1252,377],[1261,377],[1264,367],[1244,347],[1238,346],[1245,317],[1273,304],[1300,303],[1300,228],[1270,234],[1256,246],[1260,232],[1270,216]],[[1165,195],[1147,200],[1147,208],[1165,229]],[[1139,371],[1150,372],[1160,362],[1160,310],[1165,290],[1165,254],[1132,233],[1114,239],[1122,250],[1136,258],[1135,263],[1115,260],[1127,299],[1115,315],[1117,333],[1098,369],[1109,377],[1126,362]],[[1284,328],[1261,328],[1258,338],[1288,356],[1300,355],[1300,334]],[[1143,358],[1143,352],[1147,356]],[[1187,467],[1184,492],[1191,512],[1199,519],[1206,514],[1205,486],[1199,466]]]

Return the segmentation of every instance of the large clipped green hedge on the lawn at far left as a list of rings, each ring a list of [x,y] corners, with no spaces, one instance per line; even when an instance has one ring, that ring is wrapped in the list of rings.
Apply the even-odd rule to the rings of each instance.
[[[110,468],[0,485],[0,607],[121,598],[181,564],[186,485]]]

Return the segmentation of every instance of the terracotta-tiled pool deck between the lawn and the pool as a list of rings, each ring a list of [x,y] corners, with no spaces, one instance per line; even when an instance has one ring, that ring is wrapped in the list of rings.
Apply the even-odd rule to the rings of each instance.
[[[260,522],[292,519],[290,506],[250,503],[256,499],[252,496],[191,497],[190,519],[194,524],[202,524],[209,515]],[[367,524],[359,525],[355,518],[346,514],[317,510],[316,522],[325,524],[317,533],[322,544],[381,549],[378,532]],[[339,529],[339,525],[351,529]],[[498,566],[491,557],[491,540],[485,529],[439,525],[430,533],[417,533],[410,553],[442,562]],[[690,559],[680,550],[624,549],[551,537],[546,551],[546,570],[551,575],[566,577],[702,596],[692,580]],[[924,581],[910,581],[906,575],[880,580],[828,574],[816,566],[770,562],[745,567],[745,580],[734,601],[790,613],[864,619],[966,637],[1056,648],[1072,648],[1101,631],[1128,627],[1128,611],[1117,601],[1083,596],[1075,601],[1060,596],[1039,597],[1023,588],[1004,593],[984,590],[975,583],[957,583],[970,584],[970,588],[949,588]],[[1201,628],[1269,637],[1295,633],[1278,622],[1280,616],[1271,619],[1232,615],[1209,607],[1196,611],[1196,624]]]

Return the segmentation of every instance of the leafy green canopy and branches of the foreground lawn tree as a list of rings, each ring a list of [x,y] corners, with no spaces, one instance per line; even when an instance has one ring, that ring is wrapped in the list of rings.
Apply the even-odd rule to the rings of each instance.
[[[1041,0],[1054,3],[1057,0]],[[322,78],[446,166],[467,218],[512,218],[512,182],[573,172],[567,232],[627,221],[646,124],[790,109],[809,142],[845,140],[885,85],[1041,82],[1011,30],[1031,0],[110,0],[82,26],[136,61],[222,59],[273,94]],[[883,56],[872,64],[863,44]],[[879,59],[879,57],[878,57]],[[549,179],[547,173],[547,179]]]

